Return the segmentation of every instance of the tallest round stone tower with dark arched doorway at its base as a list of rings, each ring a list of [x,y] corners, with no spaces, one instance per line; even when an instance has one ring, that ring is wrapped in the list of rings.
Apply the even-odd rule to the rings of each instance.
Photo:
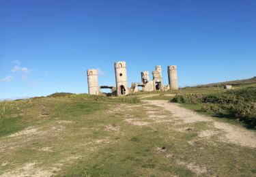
[[[115,82],[117,84],[117,96],[128,95],[126,62],[115,62]]]

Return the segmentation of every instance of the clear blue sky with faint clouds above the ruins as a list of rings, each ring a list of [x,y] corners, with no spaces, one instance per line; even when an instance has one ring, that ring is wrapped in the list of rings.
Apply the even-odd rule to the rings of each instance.
[[[86,69],[115,85],[177,65],[179,86],[256,76],[254,0],[1,0],[0,99],[87,93]],[[151,76],[152,78],[152,76]]]

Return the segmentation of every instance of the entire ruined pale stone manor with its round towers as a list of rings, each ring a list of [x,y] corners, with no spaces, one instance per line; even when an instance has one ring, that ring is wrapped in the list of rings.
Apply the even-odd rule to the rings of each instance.
[[[177,90],[177,66],[170,65],[167,69],[169,85],[164,86],[162,82],[162,67],[156,65],[156,70],[152,71],[153,79],[150,80],[149,71],[141,71],[141,82],[132,82],[132,86],[127,86],[126,62],[115,62],[115,86],[98,86],[98,70],[88,69],[88,90],[90,95],[124,96],[128,93],[139,91],[167,91]],[[139,89],[141,87],[141,89]],[[102,93],[100,89],[109,88],[111,93]]]

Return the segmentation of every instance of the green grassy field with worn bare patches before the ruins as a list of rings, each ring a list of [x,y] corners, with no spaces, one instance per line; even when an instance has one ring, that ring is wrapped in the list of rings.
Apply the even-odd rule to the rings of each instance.
[[[143,102],[177,92],[220,91],[1,101],[0,176],[256,176],[255,148],[221,140],[212,122],[183,123]]]

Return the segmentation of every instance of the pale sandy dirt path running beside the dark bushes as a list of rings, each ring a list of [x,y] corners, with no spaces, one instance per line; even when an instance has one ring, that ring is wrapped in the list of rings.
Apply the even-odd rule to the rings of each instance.
[[[180,108],[176,103],[169,103],[169,101],[147,100],[145,103],[159,106],[171,112],[174,118],[182,120],[184,126],[188,123],[196,123],[199,121],[209,122],[209,126],[213,125],[220,132],[223,132],[223,136],[220,136],[219,138],[223,142],[230,142],[240,146],[256,148],[256,132],[254,131],[230,125],[229,123],[220,123],[210,116],[203,116],[191,110],[187,110],[186,108]],[[199,136],[208,133],[212,134],[212,132],[202,132]]]

